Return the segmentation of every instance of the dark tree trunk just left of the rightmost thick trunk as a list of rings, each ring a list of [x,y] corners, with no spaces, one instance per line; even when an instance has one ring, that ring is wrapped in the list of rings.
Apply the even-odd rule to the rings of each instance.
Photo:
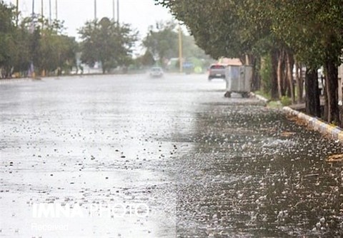
[[[320,118],[320,99],[318,73],[316,69],[307,69],[305,76],[306,113]]]

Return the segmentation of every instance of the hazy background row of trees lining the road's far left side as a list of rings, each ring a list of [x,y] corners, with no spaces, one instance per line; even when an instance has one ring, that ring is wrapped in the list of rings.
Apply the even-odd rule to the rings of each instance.
[[[20,15],[20,14],[19,14]],[[136,68],[155,63],[166,66],[170,58],[179,56],[177,24],[159,22],[149,26],[141,41],[146,48],[143,56],[133,58],[138,46],[138,31],[129,24],[119,24],[106,17],[87,21],[79,29],[81,42],[66,36],[61,21],[52,22],[34,15],[18,21],[14,6],[0,0],[0,72],[1,78],[27,76],[29,73],[49,76],[81,69],[81,63],[93,67],[99,63],[103,73],[121,66]],[[192,36],[182,34],[184,56],[206,58]],[[76,61],[76,55],[81,61]],[[80,57],[81,56],[81,57]],[[207,57],[208,58],[208,57]]]

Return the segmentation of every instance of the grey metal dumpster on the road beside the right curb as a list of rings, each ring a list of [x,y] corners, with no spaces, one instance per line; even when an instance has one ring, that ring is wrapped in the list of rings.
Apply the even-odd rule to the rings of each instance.
[[[240,93],[242,98],[248,98],[252,85],[252,66],[227,66],[225,80],[227,81],[225,97],[230,98],[231,93]]]

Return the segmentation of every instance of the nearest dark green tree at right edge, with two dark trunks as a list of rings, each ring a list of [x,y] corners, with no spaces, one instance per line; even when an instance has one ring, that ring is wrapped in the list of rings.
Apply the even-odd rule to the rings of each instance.
[[[343,4],[329,1],[269,1],[272,29],[297,61],[307,66],[307,113],[320,116],[317,69],[325,69],[325,113],[339,124],[337,66],[343,48]],[[299,93],[298,93],[299,94]]]

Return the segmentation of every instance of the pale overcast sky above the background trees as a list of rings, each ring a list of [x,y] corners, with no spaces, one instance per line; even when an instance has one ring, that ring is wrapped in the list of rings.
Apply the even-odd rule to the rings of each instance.
[[[41,0],[19,0],[19,11],[23,16],[29,16],[32,12],[32,1],[34,11],[41,14]],[[56,0],[43,0],[44,16],[49,18],[49,1],[51,1],[51,17],[56,17]],[[115,8],[116,8],[116,1]],[[16,4],[16,0],[5,0],[6,3]],[[96,0],[96,17],[101,19],[104,16],[113,17],[112,0]],[[115,11],[116,12],[116,11]],[[84,25],[87,20],[94,19],[94,0],[57,0],[58,19],[64,20],[66,33],[69,36],[76,36],[77,29]],[[116,16],[115,16],[116,17]],[[146,35],[148,26],[156,21],[172,19],[167,9],[162,6],[155,6],[153,0],[119,0],[119,21],[131,24],[139,31],[143,38]]]

